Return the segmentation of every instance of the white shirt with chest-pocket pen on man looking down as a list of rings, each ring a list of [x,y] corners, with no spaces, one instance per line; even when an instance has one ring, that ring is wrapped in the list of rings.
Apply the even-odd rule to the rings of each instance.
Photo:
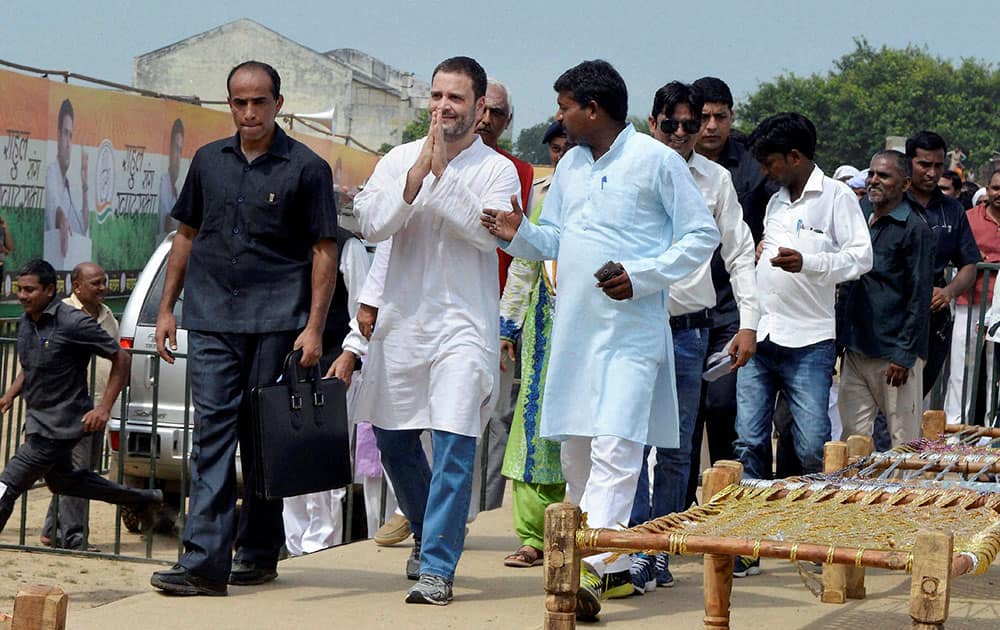
[[[779,247],[802,254],[799,273],[770,263]],[[833,339],[835,288],[870,271],[872,258],[868,222],[846,184],[826,177],[817,166],[794,202],[782,187],[764,215],[757,340],[770,337],[779,346],[801,348]]]

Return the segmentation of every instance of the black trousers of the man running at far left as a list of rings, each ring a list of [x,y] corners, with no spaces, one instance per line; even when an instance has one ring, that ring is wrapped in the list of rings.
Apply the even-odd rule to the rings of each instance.
[[[3,495],[0,496],[0,531],[14,511],[14,503],[36,481],[45,478],[52,492],[107,503],[143,504],[152,491],[126,488],[91,470],[74,468],[73,447],[79,439],[54,440],[32,433],[18,447],[14,457],[0,473]]]

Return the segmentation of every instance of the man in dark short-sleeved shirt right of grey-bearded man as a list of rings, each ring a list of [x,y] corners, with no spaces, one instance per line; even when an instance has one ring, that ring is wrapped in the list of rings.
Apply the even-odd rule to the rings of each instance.
[[[932,131],[921,131],[906,141],[906,157],[913,166],[908,197],[919,205],[918,211],[935,237],[930,345],[923,375],[925,396],[934,387],[951,349],[951,303],[976,281],[976,263],[982,259],[962,203],[938,188],[947,150],[944,139]],[[946,283],[944,268],[949,264],[958,271]]]

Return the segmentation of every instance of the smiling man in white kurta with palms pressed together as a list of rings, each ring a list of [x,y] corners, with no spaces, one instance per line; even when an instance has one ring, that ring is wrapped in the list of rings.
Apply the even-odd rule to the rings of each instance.
[[[520,186],[510,161],[474,132],[486,88],[485,73],[478,88],[481,71],[467,58],[438,66],[428,137],[382,158],[354,202],[367,239],[392,237],[358,416],[373,419],[420,552],[410,603],[451,599],[476,438],[499,382],[496,239],[480,215],[509,211]],[[420,445],[425,430],[433,472]]]

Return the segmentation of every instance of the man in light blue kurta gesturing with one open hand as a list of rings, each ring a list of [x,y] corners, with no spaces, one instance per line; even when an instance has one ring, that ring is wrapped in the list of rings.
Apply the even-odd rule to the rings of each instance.
[[[678,445],[668,288],[709,259],[719,233],[684,160],[625,122],[625,84],[610,64],[584,62],[555,89],[556,119],[579,146],[556,168],[538,225],[517,212],[487,213],[483,224],[513,237],[501,244],[514,256],[558,262],[541,432],[564,441],[567,497],[588,524],[620,528],[643,444]],[[609,260],[624,273],[595,286]],[[631,593],[629,557],[606,559],[586,559],[597,583],[588,593],[585,571],[581,618]]]

